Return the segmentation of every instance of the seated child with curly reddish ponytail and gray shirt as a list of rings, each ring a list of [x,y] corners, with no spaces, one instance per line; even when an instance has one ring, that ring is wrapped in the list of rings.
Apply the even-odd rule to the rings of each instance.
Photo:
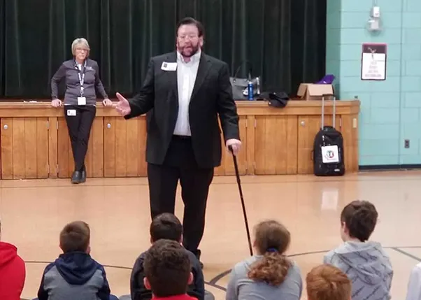
[[[299,300],[302,292],[301,271],[285,256],[290,231],[275,220],[255,227],[257,255],[234,266],[227,287],[227,300]]]

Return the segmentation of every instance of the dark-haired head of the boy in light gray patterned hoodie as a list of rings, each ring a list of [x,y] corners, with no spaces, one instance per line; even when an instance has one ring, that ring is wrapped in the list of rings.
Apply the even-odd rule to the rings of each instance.
[[[378,213],[369,201],[352,201],[341,213],[341,237],[343,241],[357,238],[367,241],[374,231]]]

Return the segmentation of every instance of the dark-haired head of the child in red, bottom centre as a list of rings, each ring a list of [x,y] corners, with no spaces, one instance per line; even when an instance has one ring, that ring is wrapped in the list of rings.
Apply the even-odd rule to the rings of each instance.
[[[185,248],[176,241],[161,239],[152,244],[143,262],[155,297],[171,297],[187,293],[190,259]]]

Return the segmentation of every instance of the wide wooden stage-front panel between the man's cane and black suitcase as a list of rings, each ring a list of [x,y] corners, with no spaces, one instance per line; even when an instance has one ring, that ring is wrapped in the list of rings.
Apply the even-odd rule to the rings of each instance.
[[[297,116],[256,117],[255,173],[288,174],[297,169]]]

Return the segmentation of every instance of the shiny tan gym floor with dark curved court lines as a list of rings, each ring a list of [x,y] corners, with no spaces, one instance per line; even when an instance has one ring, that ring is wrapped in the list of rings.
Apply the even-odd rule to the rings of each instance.
[[[392,259],[392,298],[404,299],[411,269],[421,261],[421,171],[362,172],[341,178],[244,176],[241,178],[250,228],[274,218],[292,233],[288,255],[303,278],[341,243],[339,215],[355,199],[372,201],[379,222],[372,240]],[[27,262],[22,298],[36,297],[45,265],[59,255],[59,231],[84,220],[92,230],[92,256],[106,265],[113,294],[129,294],[136,257],[149,246],[150,213],[146,178],[3,180],[0,182],[2,239],[17,245]],[[176,213],[183,217],[178,201]],[[235,177],[215,177],[201,243],[206,290],[224,299],[229,269],[248,257],[241,200]],[[302,299],[306,299],[303,292]]]

